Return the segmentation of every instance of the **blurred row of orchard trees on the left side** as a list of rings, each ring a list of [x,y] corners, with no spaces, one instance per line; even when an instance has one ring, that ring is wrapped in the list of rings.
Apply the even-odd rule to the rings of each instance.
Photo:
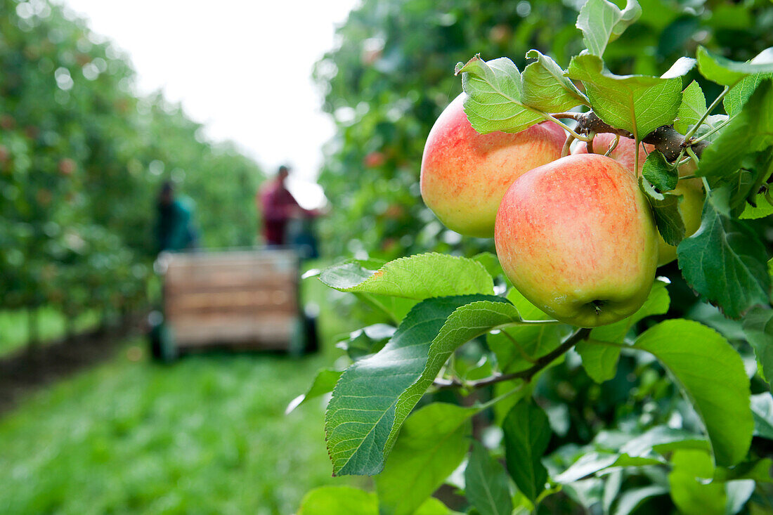
[[[261,171],[159,94],[83,20],[45,0],[0,2],[0,309],[131,309],[155,256],[171,179],[203,244],[252,244]]]

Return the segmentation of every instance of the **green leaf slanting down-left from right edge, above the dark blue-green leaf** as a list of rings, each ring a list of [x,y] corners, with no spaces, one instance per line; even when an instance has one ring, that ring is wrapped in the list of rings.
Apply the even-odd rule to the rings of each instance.
[[[731,176],[748,154],[773,144],[773,85],[765,80],[700,157],[697,175]]]

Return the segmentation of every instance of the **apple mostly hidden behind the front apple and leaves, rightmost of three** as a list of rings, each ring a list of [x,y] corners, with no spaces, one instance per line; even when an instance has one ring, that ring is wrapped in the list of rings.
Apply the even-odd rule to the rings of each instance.
[[[614,140],[615,135],[612,134],[596,135],[593,142],[594,150],[604,153]],[[641,171],[644,162],[647,160],[647,154],[655,150],[655,147],[645,143],[640,145],[638,149],[638,169]],[[635,148],[636,145],[632,139],[620,138],[618,146],[609,154],[609,157],[625,166],[626,169],[634,172]],[[574,154],[587,154],[587,145],[581,142],[580,145],[577,145]],[[679,168],[679,176],[693,175],[695,170],[696,166],[693,162],[687,163]],[[700,179],[680,180],[671,193],[682,196],[682,202],[679,203],[679,214],[682,215],[682,220],[684,221],[685,237],[690,237],[700,227],[703,200],[706,198],[706,193],[703,192],[703,182]],[[658,266],[670,263],[675,259],[676,247],[667,244],[666,240],[663,240],[663,237],[658,233]]]

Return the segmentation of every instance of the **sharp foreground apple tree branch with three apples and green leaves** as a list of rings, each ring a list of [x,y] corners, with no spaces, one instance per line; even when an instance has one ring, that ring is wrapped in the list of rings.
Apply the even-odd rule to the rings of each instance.
[[[488,217],[496,254],[322,271],[392,322],[343,339],[349,367],[291,404],[330,394],[333,473],[375,476],[375,491],[315,489],[299,513],[773,508],[773,48],[697,46],[662,75],[613,73],[606,56],[645,10],[588,0],[565,69],[536,49],[523,70],[458,63],[447,110],[463,111],[430,131],[421,193],[453,224],[438,206],[499,195],[494,220],[456,206]],[[541,147],[501,133],[537,124],[564,131],[560,155],[504,176]],[[492,138],[509,165],[478,152]],[[685,291],[702,301],[689,311]]]

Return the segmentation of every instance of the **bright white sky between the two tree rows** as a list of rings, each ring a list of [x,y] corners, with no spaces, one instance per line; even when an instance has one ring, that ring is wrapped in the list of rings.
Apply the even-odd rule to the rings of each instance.
[[[60,2],[129,54],[141,94],[162,88],[269,175],[289,163],[296,178],[315,179],[333,124],[312,66],[357,0]]]

